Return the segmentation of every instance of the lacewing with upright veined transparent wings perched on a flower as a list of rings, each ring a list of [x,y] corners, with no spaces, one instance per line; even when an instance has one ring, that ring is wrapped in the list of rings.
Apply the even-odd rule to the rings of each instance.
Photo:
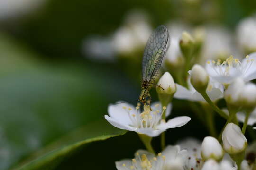
[[[166,26],[158,26],[146,42],[142,60],[142,83],[139,101],[144,105],[146,99],[151,102],[149,90],[155,85],[155,77],[165,56],[169,33]]]

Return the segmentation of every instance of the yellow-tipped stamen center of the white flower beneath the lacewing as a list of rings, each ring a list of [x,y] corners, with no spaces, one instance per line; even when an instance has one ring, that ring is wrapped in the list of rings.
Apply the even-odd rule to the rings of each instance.
[[[132,122],[130,126],[136,127],[137,129],[152,128],[155,130],[162,120],[162,115],[166,110],[166,107],[164,106],[160,112],[160,104],[155,105],[155,110],[150,110],[149,105],[144,105],[144,111],[140,113],[140,104],[138,103],[136,113],[131,113],[132,108],[123,107],[123,109],[127,111],[129,119]]]

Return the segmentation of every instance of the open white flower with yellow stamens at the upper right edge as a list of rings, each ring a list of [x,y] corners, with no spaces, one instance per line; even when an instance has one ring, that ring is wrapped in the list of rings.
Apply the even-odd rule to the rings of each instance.
[[[256,53],[247,55],[242,62],[230,56],[221,63],[218,61],[207,61],[206,71],[209,76],[222,84],[230,84],[234,79],[241,77],[244,81],[256,78]]]

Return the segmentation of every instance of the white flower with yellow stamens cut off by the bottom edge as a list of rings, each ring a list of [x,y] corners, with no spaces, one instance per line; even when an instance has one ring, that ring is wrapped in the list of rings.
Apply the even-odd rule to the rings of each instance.
[[[180,150],[178,145],[167,146],[163,153],[155,156],[144,150],[138,150],[135,158],[116,161],[118,170],[183,170],[186,150]]]

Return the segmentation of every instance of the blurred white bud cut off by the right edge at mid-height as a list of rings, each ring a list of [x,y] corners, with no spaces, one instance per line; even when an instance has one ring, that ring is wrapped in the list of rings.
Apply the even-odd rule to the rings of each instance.
[[[255,108],[256,106],[256,85],[249,83],[245,85],[240,93],[240,100],[243,107]]]

